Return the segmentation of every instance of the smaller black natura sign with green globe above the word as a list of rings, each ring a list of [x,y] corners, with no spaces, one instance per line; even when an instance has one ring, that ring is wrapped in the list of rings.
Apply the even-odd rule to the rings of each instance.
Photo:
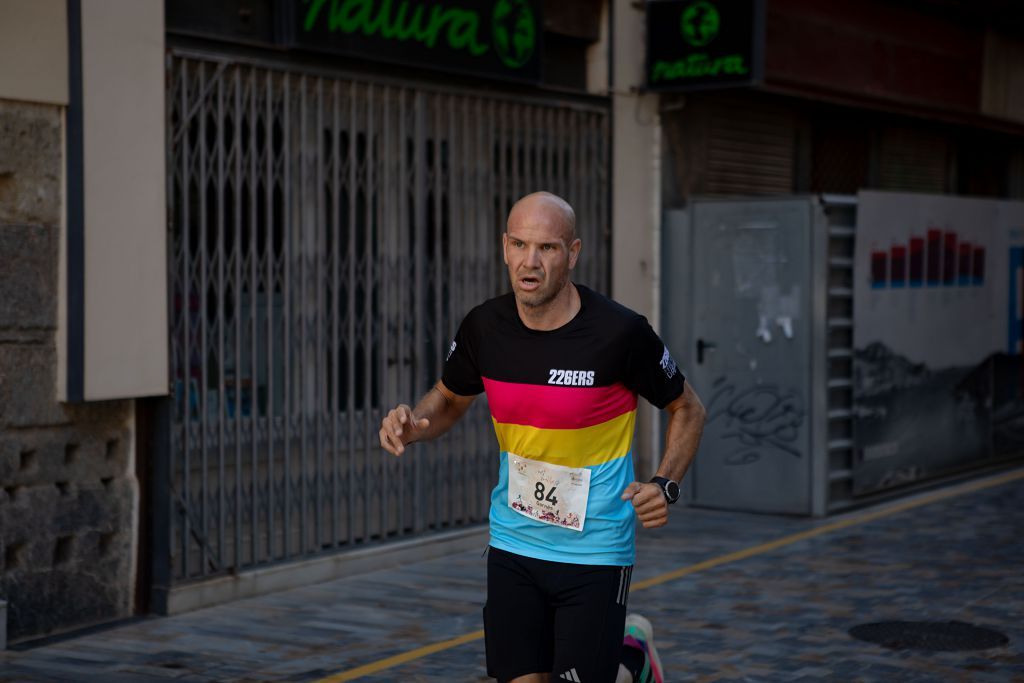
[[[763,0],[647,2],[648,89],[750,85],[763,62]]]

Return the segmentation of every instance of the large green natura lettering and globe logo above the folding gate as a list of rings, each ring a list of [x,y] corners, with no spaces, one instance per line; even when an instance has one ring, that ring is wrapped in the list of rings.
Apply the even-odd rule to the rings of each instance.
[[[493,45],[480,39],[485,17],[475,9],[427,7],[423,0],[303,0],[302,28],[362,34],[397,42],[414,41],[427,48],[446,45],[480,56],[494,47],[510,69],[529,61],[537,45],[537,20],[526,0],[497,0],[490,12]]]

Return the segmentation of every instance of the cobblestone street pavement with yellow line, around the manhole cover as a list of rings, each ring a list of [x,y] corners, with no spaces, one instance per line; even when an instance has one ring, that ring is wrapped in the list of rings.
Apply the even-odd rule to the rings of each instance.
[[[1022,475],[824,520],[674,510],[640,532],[630,609],[654,624],[668,681],[1024,682]],[[482,551],[8,651],[0,681],[486,681]],[[848,634],[889,620],[1010,641],[897,651]]]

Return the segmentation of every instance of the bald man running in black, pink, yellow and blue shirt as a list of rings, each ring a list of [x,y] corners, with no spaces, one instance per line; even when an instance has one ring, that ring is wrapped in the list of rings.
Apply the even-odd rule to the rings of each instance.
[[[663,683],[650,624],[626,613],[635,519],[668,523],[703,405],[646,318],[569,281],[582,243],[564,200],[519,200],[502,244],[512,293],[466,315],[440,381],[415,409],[388,413],[381,445],[400,456],[440,436],[486,392],[501,452],[487,674],[503,683]],[[633,473],[638,394],[669,414],[649,482]]]

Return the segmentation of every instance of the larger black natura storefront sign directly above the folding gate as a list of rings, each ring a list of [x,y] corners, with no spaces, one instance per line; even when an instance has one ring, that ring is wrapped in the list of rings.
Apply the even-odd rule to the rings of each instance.
[[[541,78],[540,0],[278,0],[290,47],[490,78]]]

